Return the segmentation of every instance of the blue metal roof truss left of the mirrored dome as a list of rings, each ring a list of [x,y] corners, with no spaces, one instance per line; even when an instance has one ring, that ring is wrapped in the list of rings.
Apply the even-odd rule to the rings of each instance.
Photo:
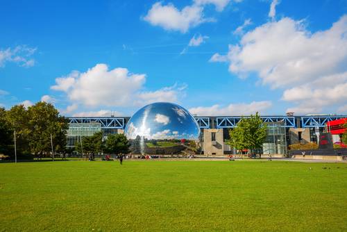
[[[92,123],[101,124],[101,129],[124,129],[124,117],[69,117],[69,123]]]

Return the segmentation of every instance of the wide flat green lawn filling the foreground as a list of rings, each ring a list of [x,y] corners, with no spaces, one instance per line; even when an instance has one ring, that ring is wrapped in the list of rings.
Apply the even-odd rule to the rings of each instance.
[[[347,231],[346,163],[0,163],[0,197],[0,231]]]

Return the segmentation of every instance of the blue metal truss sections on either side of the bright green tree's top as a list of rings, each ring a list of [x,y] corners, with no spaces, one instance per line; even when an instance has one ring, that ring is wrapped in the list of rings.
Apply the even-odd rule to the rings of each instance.
[[[246,116],[245,118],[248,118]],[[287,116],[261,116],[263,122],[284,122],[283,127],[296,127],[295,117]],[[242,117],[217,117],[217,129],[221,128],[233,128],[236,126]]]

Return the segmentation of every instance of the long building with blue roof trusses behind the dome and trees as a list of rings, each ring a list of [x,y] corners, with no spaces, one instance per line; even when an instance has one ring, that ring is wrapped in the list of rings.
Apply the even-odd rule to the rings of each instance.
[[[247,117],[247,116],[245,116]],[[319,134],[325,124],[346,115],[306,115],[306,116],[261,116],[268,124],[267,137],[263,144],[263,154],[286,154],[289,144],[319,142]],[[105,135],[124,133],[130,117],[69,117],[68,146],[83,136],[98,131]],[[235,149],[226,144],[229,130],[232,130],[242,117],[195,117],[201,129],[202,153],[208,156],[235,154]]]

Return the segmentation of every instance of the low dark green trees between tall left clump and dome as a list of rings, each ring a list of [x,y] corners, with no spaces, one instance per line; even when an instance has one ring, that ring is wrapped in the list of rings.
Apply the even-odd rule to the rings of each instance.
[[[130,143],[125,135],[112,134],[105,139],[102,131],[83,137],[82,141],[75,144],[75,150],[81,154],[128,154],[129,147]]]

